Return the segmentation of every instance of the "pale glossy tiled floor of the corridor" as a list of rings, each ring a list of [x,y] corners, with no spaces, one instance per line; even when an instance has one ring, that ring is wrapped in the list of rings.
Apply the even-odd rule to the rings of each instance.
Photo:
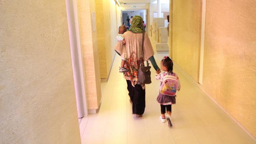
[[[166,54],[155,54],[160,63]],[[127,84],[118,72],[121,59],[114,60],[108,82],[102,83],[102,104],[98,114],[82,119],[82,144],[256,144],[228,115],[174,65],[181,90],[172,106],[173,127],[159,120],[156,102],[160,82],[146,85],[146,110],[134,118]]]

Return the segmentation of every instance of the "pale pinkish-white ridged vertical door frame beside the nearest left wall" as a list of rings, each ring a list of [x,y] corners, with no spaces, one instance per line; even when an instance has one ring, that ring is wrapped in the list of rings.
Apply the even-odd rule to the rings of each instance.
[[[76,106],[78,110],[78,118],[82,118],[88,115],[88,108],[85,90],[83,55],[79,32],[78,7],[76,0],[66,0],[66,10],[74,88],[76,94]]]

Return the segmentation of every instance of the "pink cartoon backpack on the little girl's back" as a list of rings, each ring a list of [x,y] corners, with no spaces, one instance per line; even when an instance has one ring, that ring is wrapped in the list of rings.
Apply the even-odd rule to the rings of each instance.
[[[160,86],[160,94],[164,94],[167,96],[176,96],[178,84],[178,80],[175,76],[164,76],[163,82]]]

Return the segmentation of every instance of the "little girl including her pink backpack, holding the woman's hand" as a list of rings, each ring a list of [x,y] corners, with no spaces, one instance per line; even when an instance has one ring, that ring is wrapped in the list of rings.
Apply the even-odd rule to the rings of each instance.
[[[162,74],[160,72],[156,74],[156,80],[161,81],[160,91],[157,97],[157,101],[161,106],[160,121],[166,122],[167,119],[168,126],[172,126],[172,104],[176,103],[176,90],[180,90],[180,80],[178,75],[172,72],[173,62],[168,56],[162,59],[160,67],[164,71]],[[167,118],[165,118],[165,109],[168,114]]]

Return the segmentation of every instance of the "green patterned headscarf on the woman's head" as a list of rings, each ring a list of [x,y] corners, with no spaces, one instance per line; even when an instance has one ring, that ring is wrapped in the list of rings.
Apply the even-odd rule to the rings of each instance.
[[[132,19],[132,26],[130,27],[129,31],[135,32],[135,33],[142,33],[145,32],[145,28],[142,24],[142,18],[140,16],[134,16]]]

